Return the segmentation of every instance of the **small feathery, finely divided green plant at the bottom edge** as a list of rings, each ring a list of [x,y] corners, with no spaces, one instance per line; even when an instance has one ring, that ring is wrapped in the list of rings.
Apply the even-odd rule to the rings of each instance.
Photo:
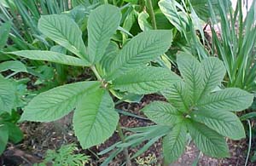
[[[89,157],[84,154],[75,154],[77,147],[74,144],[61,146],[57,151],[48,150],[43,163],[37,163],[35,166],[84,166],[88,163]]]

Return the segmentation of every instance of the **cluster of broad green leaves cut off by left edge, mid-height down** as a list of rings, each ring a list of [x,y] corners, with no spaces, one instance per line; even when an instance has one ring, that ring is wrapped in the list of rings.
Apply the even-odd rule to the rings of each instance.
[[[0,74],[0,154],[5,150],[8,141],[18,143],[23,134],[16,123],[20,119],[17,108],[26,104],[26,85],[24,80],[14,80],[15,73],[24,71],[26,67],[19,61],[5,61],[0,63],[0,72],[14,71],[7,77]]]

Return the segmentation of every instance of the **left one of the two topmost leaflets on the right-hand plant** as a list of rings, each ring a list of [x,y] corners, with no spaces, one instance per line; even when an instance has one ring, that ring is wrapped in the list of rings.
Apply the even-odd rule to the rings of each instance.
[[[191,54],[177,54],[178,70],[186,83],[189,90],[189,100],[195,104],[199,99],[202,91],[202,74],[201,63]]]

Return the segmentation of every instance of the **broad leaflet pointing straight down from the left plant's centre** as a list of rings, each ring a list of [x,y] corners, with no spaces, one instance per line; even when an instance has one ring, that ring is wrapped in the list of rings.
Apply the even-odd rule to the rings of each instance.
[[[81,146],[86,149],[101,144],[113,135],[119,114],[108,91],[97,89],[86,94],[74,112],[73,128]]]

